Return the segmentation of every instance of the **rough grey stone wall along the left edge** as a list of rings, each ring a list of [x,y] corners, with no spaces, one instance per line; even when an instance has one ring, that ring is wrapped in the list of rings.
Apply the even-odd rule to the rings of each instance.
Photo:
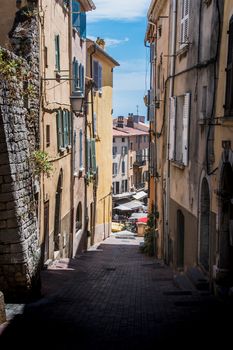
[[[39,140],[38,23],[22,11],[11,32],[12,47],[18,55],[1,49],[4,62],[16,66],[7,73],[0,71],[0,290],[6,300],[25,298],[39,284],[39,232],[31,161]]]

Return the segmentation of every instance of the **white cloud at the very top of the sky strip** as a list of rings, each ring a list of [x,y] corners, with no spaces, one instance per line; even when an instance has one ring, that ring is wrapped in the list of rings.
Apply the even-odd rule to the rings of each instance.
[[[88,13],[89,22],[100,20],[132,21],[145,17],[151,0],[94,0],[96,10]]]

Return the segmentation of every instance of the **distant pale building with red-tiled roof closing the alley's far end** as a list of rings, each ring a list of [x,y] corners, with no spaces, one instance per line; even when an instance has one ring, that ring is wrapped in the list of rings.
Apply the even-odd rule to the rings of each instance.
[[[141,117],[142,120],[142,117]],[[140,130],[141,128],[142,130]],[[148,188],[149,127],[133,116],[113,121],[113,194]]]

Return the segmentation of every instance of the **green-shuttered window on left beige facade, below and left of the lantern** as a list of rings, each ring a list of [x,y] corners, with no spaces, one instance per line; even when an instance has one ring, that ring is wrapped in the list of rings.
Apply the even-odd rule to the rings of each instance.
[[[57,111],[57,145],[58,150],[71,145],[71,113],[67,110]]]

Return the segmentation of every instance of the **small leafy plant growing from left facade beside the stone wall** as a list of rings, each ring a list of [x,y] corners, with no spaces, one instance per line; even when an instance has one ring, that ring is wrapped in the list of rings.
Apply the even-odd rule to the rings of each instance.
[[[49,161],[49,155],[44,151],[34,151],[31,155],[33,169],[35,175],[46,174],[50,175],[53,171],[53,166]]]

